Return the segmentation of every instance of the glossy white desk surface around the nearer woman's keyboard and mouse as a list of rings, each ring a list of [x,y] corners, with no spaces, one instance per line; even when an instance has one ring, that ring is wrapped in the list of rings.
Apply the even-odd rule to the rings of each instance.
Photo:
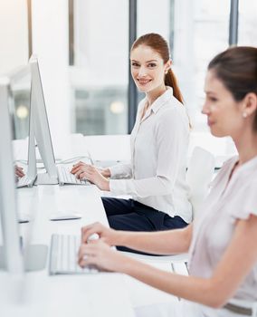
[[[17,192],[20,212],[33,219],[30,224],[20,225],[22,233],[30,235],[34,244],[50,245],[52,233],[80,234],[81,226],[93,221],[107,224],[99,191],[94,186],[38,186],[20,188]],[[78,211],[83,217],[49,221],[52,213],[66,210]],[[3,317],[134,315],[122,274],[49,276],[47,267],[15,278],[2,271],[0,293]]]

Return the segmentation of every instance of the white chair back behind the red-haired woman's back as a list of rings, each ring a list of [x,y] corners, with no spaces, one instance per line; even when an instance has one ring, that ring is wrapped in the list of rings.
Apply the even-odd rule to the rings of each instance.
[[[214,167],[214,155],[206,149],[195,147],[186,172],[194,218],[208,194],[208,186],[214,176]]]

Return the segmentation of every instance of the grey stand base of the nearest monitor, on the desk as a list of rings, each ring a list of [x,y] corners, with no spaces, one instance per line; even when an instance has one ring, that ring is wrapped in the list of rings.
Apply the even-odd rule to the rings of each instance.
[[[45,268],[47,245],[29,245],[24,255],[25,272],[41,271]],[[0,246],[0,270],[5,270],[4,247]]]

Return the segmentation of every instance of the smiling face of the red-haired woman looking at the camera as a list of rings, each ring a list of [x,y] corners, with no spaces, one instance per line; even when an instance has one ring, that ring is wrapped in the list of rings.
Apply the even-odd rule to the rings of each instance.
[[[165,73],[170,67],[149,46],[139,45],[130,53],[130,69],[138,90],[148,93],[165,89]]]

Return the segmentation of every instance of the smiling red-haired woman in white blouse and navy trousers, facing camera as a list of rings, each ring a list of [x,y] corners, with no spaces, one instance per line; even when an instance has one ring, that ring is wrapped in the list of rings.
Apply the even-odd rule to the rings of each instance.
[[[131,164],[100,170],[79,163],[71,170],[111,194],[133,197],[102,198],[115,229],[167,230],[192,220],[186,185],[189,120],[171,64],[161,35],[145,34],[133,43],[131,75],[146,97],[131,132]]]

